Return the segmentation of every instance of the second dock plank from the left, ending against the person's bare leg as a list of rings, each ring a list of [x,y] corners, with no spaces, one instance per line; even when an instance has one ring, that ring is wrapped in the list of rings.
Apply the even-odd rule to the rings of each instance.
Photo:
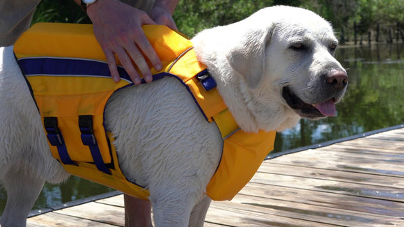
[[[57,214],[69,215],[81,219],[94,220],[105,224],[123,226],[125,223],[124,208],[102,203],[84,203],[74,207],[56,210]]]

